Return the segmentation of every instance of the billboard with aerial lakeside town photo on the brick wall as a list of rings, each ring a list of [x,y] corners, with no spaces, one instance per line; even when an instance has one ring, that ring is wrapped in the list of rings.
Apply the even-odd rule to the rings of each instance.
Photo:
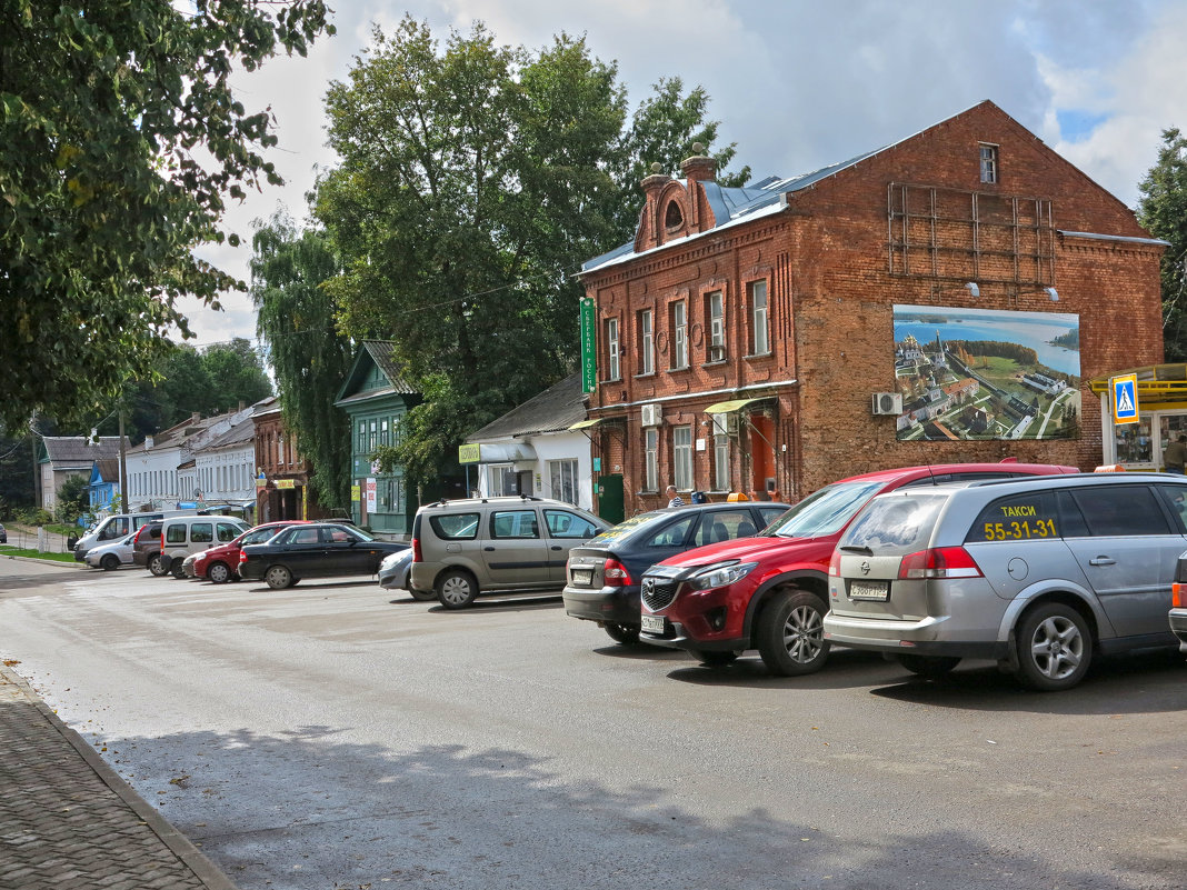
[[[1075,439],[1080,317],[894,307],[900,439]]]

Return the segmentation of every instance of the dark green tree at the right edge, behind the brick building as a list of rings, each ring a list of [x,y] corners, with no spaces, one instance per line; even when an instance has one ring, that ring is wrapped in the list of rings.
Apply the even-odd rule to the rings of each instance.
[[[1137,220],[1170,242],[1162,254],[1162,342],[1167,361],[1187,361],[1187,138],[1162,131],[1159,159],[1137,186]]]

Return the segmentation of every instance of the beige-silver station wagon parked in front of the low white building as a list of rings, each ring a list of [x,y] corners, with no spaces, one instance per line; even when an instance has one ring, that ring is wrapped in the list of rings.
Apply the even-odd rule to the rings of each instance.
[[[541,497],[438,501],[412,522],[413,592],[436,592],[464,609],[482,591],[560,590],[569,549],[610,525],[579,507]]]

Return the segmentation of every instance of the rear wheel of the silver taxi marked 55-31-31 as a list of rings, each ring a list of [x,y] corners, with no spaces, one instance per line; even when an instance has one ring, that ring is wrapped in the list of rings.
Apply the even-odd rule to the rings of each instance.
[[[1032,689],[1071,689],[1092,663],[1092,634],[1084,616],[1062,603],[1042,603],[1017,632],[1018,681]]]

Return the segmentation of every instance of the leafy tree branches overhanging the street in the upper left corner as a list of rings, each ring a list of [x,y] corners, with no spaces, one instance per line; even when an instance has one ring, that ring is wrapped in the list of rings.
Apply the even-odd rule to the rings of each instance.
[[[332,33],[324,0],[0,0],[0,419],[76,421],[167,351],[224,202],[279,183],[229,77]]]

